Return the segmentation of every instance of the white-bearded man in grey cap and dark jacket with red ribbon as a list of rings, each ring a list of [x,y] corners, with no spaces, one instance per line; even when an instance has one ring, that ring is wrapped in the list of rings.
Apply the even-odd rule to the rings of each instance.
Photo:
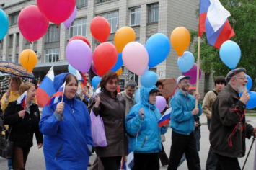
[[[228,85],[213,103],[210,143],[219,161],[217,169],[239,170],[237,158],[245,154],[245,138],[255,135],[256,128],[245,122],[245,107],[250,99],[245,73],[244,68],[229,71]]]

